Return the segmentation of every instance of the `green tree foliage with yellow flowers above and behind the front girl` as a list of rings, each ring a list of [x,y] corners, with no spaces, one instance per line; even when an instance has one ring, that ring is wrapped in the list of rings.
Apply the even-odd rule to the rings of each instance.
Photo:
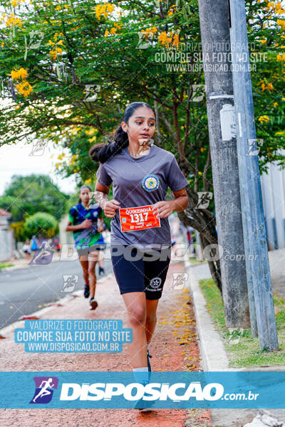
[[[266,54],[266,60],[251,58],[257,65],[252,87],[257,138],[264,141],[259,153],[263,172],[269,162],[284,166],[278,154],[285,142],[284,60],[278,60],[284,50],[278,19],[284,14],[272,11],[266,1],[247,0],[246,6],[251,53]],[[76,174],[81,185],[98,168],[88,157],[90,147],[107,140],[128,103],[146,101],[157,113],[155,143],[175,154],[195,191],[212,191],[206,100],[193,102],[192,90],[204,84],[204,75],[200,68],[187,70],[182,56],[168,63],[163,59],[183,53],[195,63],[194,53],[201,53],[197,0],[39,0],[16,6],[21,24],[7,23],[9,2],[4,9],[0,78],[10,102],[1,107],[0,144],[35,135],[68,147],[70,159],[62,158],[56,168],[61,176]],[[31,31],[43,35],[38,46]],[[18,71],[11,75],[13,70]],[[92,101],[87,85],[96,86]],[[214,211],[214,203],[209,209]]]

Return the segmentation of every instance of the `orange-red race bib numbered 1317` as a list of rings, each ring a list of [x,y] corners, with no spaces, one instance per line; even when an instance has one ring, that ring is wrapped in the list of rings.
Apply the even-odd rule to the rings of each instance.
[[[119,209],[121,231],[160,227],[160,217],[153,214],[152,205]]]

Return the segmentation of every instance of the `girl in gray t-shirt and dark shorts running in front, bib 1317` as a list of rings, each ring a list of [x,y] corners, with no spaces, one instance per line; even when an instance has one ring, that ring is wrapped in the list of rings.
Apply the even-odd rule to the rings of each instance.
[[[128,346],[131,363],[134,372],[145,373],[146,381],[151,370],[148,347],[170,263],[167,216],[188,206],[187,179],[175,156],[152,144],[154,132],[155,111],[145,102],[132,102],[124,112],[113,142],[97,144],[89,152],[94,162],[100,162],[95,199],[105,216],[113,218],[111,259],[128,312],[128,327],[133,328],[133,342]],[[112,182],[114,199],[108,201]],[[168,187],[175,200],[165,201]],[[152,260],[150,245],[160,255],[158,260]],[[132,248],[137,250],[136,255],[145,253],[145,259],[136,260],[138,257],[130,253]]]

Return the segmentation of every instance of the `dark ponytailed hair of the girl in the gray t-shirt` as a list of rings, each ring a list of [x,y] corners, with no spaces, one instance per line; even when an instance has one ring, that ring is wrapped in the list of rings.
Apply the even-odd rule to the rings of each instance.
[[[126,107],[122,121],[128,124],[130,117],[140,107],[150,108],[155,115],[155,111],[147,102],[132,102]],[[96,144],[90,148],[89,156],[93,162],[105,163],[110,157],[115,156],[115,154],[120,153],[125,147],[128,147],[128,133],[123,130],[122,125],[117,127],[115,135],[110,135],[109,137],[110,139],[108,139],[107,144]]]

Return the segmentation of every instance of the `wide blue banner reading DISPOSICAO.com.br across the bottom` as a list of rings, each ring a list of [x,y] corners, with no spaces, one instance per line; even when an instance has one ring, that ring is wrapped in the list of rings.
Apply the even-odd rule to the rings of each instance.
[[[0,372],[0,407],[285,408],[285,372],[152,371],[148,382],[145,374]]]

